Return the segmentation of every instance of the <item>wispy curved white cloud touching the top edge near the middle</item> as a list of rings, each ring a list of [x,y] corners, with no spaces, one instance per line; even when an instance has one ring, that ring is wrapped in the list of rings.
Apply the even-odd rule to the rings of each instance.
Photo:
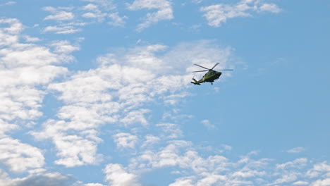
[[[128,9],[138,11],[141,9],[158,9],[157,12],[147,13],[145,22],[138,25],[137,30],[142,31],[152,24],[161,20],[173,19],[173,10],[170,1],[166,0],[135,0],[133,4],[128,4]]]

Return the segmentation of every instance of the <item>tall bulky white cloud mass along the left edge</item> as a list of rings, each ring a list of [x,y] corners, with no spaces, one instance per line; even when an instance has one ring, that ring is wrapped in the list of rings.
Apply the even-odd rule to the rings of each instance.
[[[41,149],[8,137],[12,130],[35,125],[46,90],[41,88],[67,69],[59,65],[73,61],[68,42],[56,46],[20,43],[23,25],[17,19],[0,19],[0,136],[1,163],[13,172],[36,172],[44,166]],[[25,36],[25,38],[28,38]],[[53,49],[54,47],[55,49]]]

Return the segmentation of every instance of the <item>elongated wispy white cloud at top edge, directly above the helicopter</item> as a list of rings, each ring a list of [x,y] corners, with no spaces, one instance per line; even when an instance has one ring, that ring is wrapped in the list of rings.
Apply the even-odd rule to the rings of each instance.
[[[241,0],[237,4],[215,4],[204,6],[200,9],[204,13],[208,24],[212,27],[220,27],[227,19],[238,17],[250,17],[253,12],[279,13],[281,8],[276,4],[265,4],[259,0]]]

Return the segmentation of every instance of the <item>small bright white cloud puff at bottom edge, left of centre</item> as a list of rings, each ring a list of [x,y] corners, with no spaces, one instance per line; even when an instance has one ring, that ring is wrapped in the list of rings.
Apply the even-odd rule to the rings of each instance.
[[[137,176],[128,173],[120,164],[108,164],[103,172],[106,174],[105,180],[112,186],[140,186]]]

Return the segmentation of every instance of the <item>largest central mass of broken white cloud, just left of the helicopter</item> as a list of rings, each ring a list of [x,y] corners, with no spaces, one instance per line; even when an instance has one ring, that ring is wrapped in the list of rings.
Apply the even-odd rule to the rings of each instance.
[[[207,42],[193,45],[193,48],[187,44],[187,47],[173,49],[186,52],[188,55],[185,58],[173,51],[159,55],[159,51],[167,48],[160,44],[106,54],[97,58],[98,68],[79,71],[63,82],[51,83],[49,91],[59,92],[58,99],[63,101],[63,106],[59,108],[56,119],[47,120],[42,130],[31,134],[37,139],[51,139],[54,142],[59,157],[56,163],[64,166],[98,163],[100,154],[97,154],[97,144],[102,142],[98,137],[100,128],[104,125],[124,128],[146,126],[148,118],[145,115],[149,113],[149,109],[145,109],[146,104],[166,101],[171,94],[180,94],[189,85],[191,76],[186,73],[186,68],[191,66],[192,61],[187,58],[203,58],[212,64],[219,61],[219,66],[226,64],[226,56],[222,54],[227,53],[221,48]],[[62,46],[66,46],[66,42]],[[75,49],[75,46],[64,49],[55,47],[58,52]],[[208,56],[211,52],[216,55]],[[178,69],[172,70],[170,64]],[[171,83],[174,81],[176,83]],[[175,124],[158,126],[167,137],[182,137],[182,131]],[[137,144],[135,135],[115,135],[114,139],[119,148],[132,149]]]

